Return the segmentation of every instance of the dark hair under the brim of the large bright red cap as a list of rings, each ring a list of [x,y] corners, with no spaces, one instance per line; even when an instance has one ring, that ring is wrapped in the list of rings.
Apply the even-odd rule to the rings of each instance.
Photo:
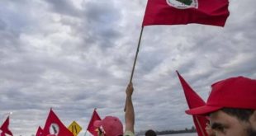
[[[249,121],[249,117],[254,114],[254,110],[252,109],[222,108],[221,110],[226,114],[235,116],[242,121]]]

